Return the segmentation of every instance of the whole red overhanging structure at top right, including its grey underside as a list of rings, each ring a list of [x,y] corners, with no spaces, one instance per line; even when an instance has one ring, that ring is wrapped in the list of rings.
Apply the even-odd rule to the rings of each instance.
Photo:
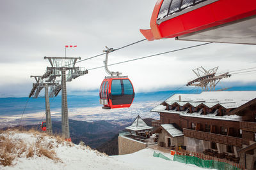
[[[150,28],[140,30],[149,41],[256,44],[255,0],[158,0]]]

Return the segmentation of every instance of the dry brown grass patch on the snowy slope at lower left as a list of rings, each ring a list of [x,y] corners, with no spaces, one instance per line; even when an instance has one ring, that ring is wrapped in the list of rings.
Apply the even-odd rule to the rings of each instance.
[[[35,143],[27,146],[22,139],[10,138],[16,132],[23,132],[31,134],[31,137],[36,138]],[[52,150],[54,148],[54,141],[46,141],[43,136],[49,136],[48,134],[42,134],[31,129],[29,131],[23,131],[23,129],[11,129],[8,131],[1,131],[0,133],[0,165],[12,166],[12,162],[17,157],[47,157],[54,160],[54,162],[62,162],[56,157],[56,152]],[[49,136],[54,139],[55,137]],[[63,143],[63,139],[60,136],[56,137],[58,143]],[[72,145],[72,144],[69,144]],[[73,144],[74,145],[74,144]]]

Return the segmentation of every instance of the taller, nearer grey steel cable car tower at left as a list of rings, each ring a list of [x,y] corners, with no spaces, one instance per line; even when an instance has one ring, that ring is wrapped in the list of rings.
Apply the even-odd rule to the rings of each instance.
[[[77,60],[81,60],[81,57],[44,57],[44,59],[48,59],[51,64],[51,67],[47,67],[47,72],[51,73],[49,77],[61,76],[61,85],[56,84],[51,94],[57,96],[61,90],[61,136],[70,139],[66,82],[87,74],[88,70],[75,67]]]

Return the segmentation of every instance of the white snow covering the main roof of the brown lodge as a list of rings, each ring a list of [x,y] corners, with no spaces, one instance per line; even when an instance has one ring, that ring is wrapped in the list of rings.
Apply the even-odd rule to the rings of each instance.
[[[179,101],[179,96],[181,101]],[[165,103],[172,105],[173,103],[178,103],[180,106],[184,106],[189,103],[193,107],[199,106],[200,104],[204,104],[205,106],[212,108],[217,104],[220,104],[226,109],[230,108],[239,108],[239,106],[252,101],[256,97],[256,91],[211,91],[211,92],[202,92],[200,94],[174,94],[172,97],[166,99]],[[151,111],[154,112],[163,112],[163,113],[176,113],[182,114],[182,116],[186,117],[204,117],[204,118],[214,118],[221,120],[235,120],[240,121],[241,117],[234,115],[228,116],[225,115],[223,117],[218,117],[216,114],[207,114],[200,115],[200,111],[197,113],[187,113],[187,111],[177,111],[175,110],[166,110],[166,106],[159,104]],[[201,111],[202,112],[202,111]]]

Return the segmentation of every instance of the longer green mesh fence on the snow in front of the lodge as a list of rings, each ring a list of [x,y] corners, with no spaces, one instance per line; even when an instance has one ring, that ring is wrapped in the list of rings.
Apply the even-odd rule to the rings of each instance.
[[[186,155],[174,155],[173,160],[177,161],[177,162],[182,162],[185,164],[193,164],[198,167],[204,167],[204,168],[208,168],[208,169],[241,170],[239,167],[232,166],[225,162],[219,162],[216,160],[204,160],[204,159],[200,159],[198,157],[191,157],[191,156],[186,156]]]

